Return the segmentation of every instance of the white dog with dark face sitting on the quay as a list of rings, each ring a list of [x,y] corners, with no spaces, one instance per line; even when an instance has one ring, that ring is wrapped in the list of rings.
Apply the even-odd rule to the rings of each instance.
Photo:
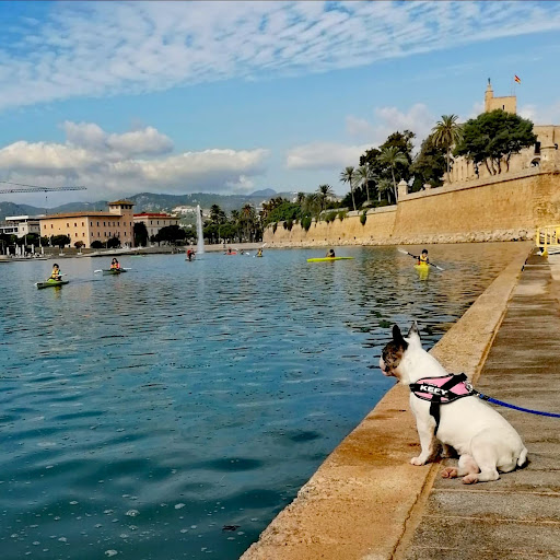
[[[407,338],[397,325],[393,340],[383,349],[380,368],[384,375],[410,385],[425,377],[450,375],[435,358],[422,349],[418,325],[412,324]],[[412,465],[425,465],[435,458],[439,442],[442,456],[453,447],[459,455],[458,468],[448,467],[443,478],[463,477],[465,485],[498,480],[499,471],[522,467],[527,450],[515,429],[493,408],[475,395],[464,396],[439,407],[440,422],[430,413],[430,401],[410,393],[410,408],[416,417],[421,453]]]

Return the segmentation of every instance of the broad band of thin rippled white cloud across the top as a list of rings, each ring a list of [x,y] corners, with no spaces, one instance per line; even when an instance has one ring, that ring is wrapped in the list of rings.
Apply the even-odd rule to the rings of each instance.
[[[560,30],[558,2],[56,2],[44,13],[3,26],[0,109],[326,72]]]

